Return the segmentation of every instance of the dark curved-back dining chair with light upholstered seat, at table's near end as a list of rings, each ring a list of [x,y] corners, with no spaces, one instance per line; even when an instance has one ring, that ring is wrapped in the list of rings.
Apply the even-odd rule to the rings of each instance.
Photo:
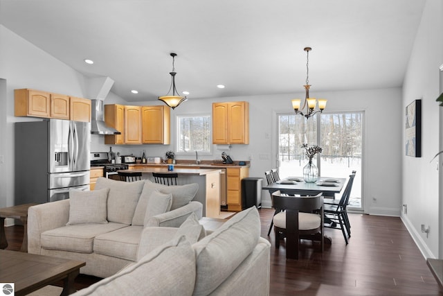
[[[289,196],[275,191],[272,195],[275,210],[279,211],[273,216],[275,249],[280,247],[280,240],[286,238],[286,258],[298,259],[300,239],[311,239],[320,241],[323,252],[323,193]]]

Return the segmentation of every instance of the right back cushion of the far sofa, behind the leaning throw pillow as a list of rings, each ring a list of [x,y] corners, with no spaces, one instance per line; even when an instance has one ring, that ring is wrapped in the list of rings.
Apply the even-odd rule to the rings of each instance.
[[[162,184],[152,183],[145,180],[145,186],[138,200],[138,204],[132,219],[132,225],[143,225],[145,221],[145,213],[147,202],[152,192],[159,190],[161,193],[172,193],[171,211],[183,207],[188,204],[199,190],[199,184],[192,183],[186,185],[166,186]]]

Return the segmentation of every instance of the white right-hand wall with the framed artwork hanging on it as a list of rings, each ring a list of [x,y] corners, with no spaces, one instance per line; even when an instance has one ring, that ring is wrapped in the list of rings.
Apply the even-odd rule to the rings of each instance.
[[[426,1],[406,71],[402,99],[403,108],[413,100],[422,99],[422,157],[406,157],[405,148],[402,149],[402,204],[408,205],[408,212],[401,218],[424,256],[433,258],[439,254],[439,216],[442,215],[437,159],[431,162],[439,151],[439,107],[435,99],[440,94],[439,67],[443,63],[442,18],[442,2]],[[405,119],[403,122],[405,124]],[[405,139],[404,129],[402,132]],[[430,227],[428,237],[420,231],[422,224]]]

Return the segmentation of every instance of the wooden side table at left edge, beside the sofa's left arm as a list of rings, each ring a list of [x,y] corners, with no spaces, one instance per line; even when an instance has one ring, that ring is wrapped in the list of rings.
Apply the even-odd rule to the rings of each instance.
[[[23,242],[21,243],[21,252],[28,252],[28,208],[36,204],[19,204],[14,207],[5,207],[0,209],[0,249],[8,247],[8,240],[5,232],[5,218],[20,219],[24,226]]]

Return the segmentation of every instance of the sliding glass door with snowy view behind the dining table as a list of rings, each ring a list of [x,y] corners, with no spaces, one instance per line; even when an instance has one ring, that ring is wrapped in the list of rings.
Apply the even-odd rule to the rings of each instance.
[[[323,152],[315,158],[322,176],[348,177],[356,171],[350,207],[363,209],[362,157],[363,112],[316,114],[310,119],[296,114],[278,115],[278,164],[280,177],[302,176],[307,158],[303,143],[318,144]]]

